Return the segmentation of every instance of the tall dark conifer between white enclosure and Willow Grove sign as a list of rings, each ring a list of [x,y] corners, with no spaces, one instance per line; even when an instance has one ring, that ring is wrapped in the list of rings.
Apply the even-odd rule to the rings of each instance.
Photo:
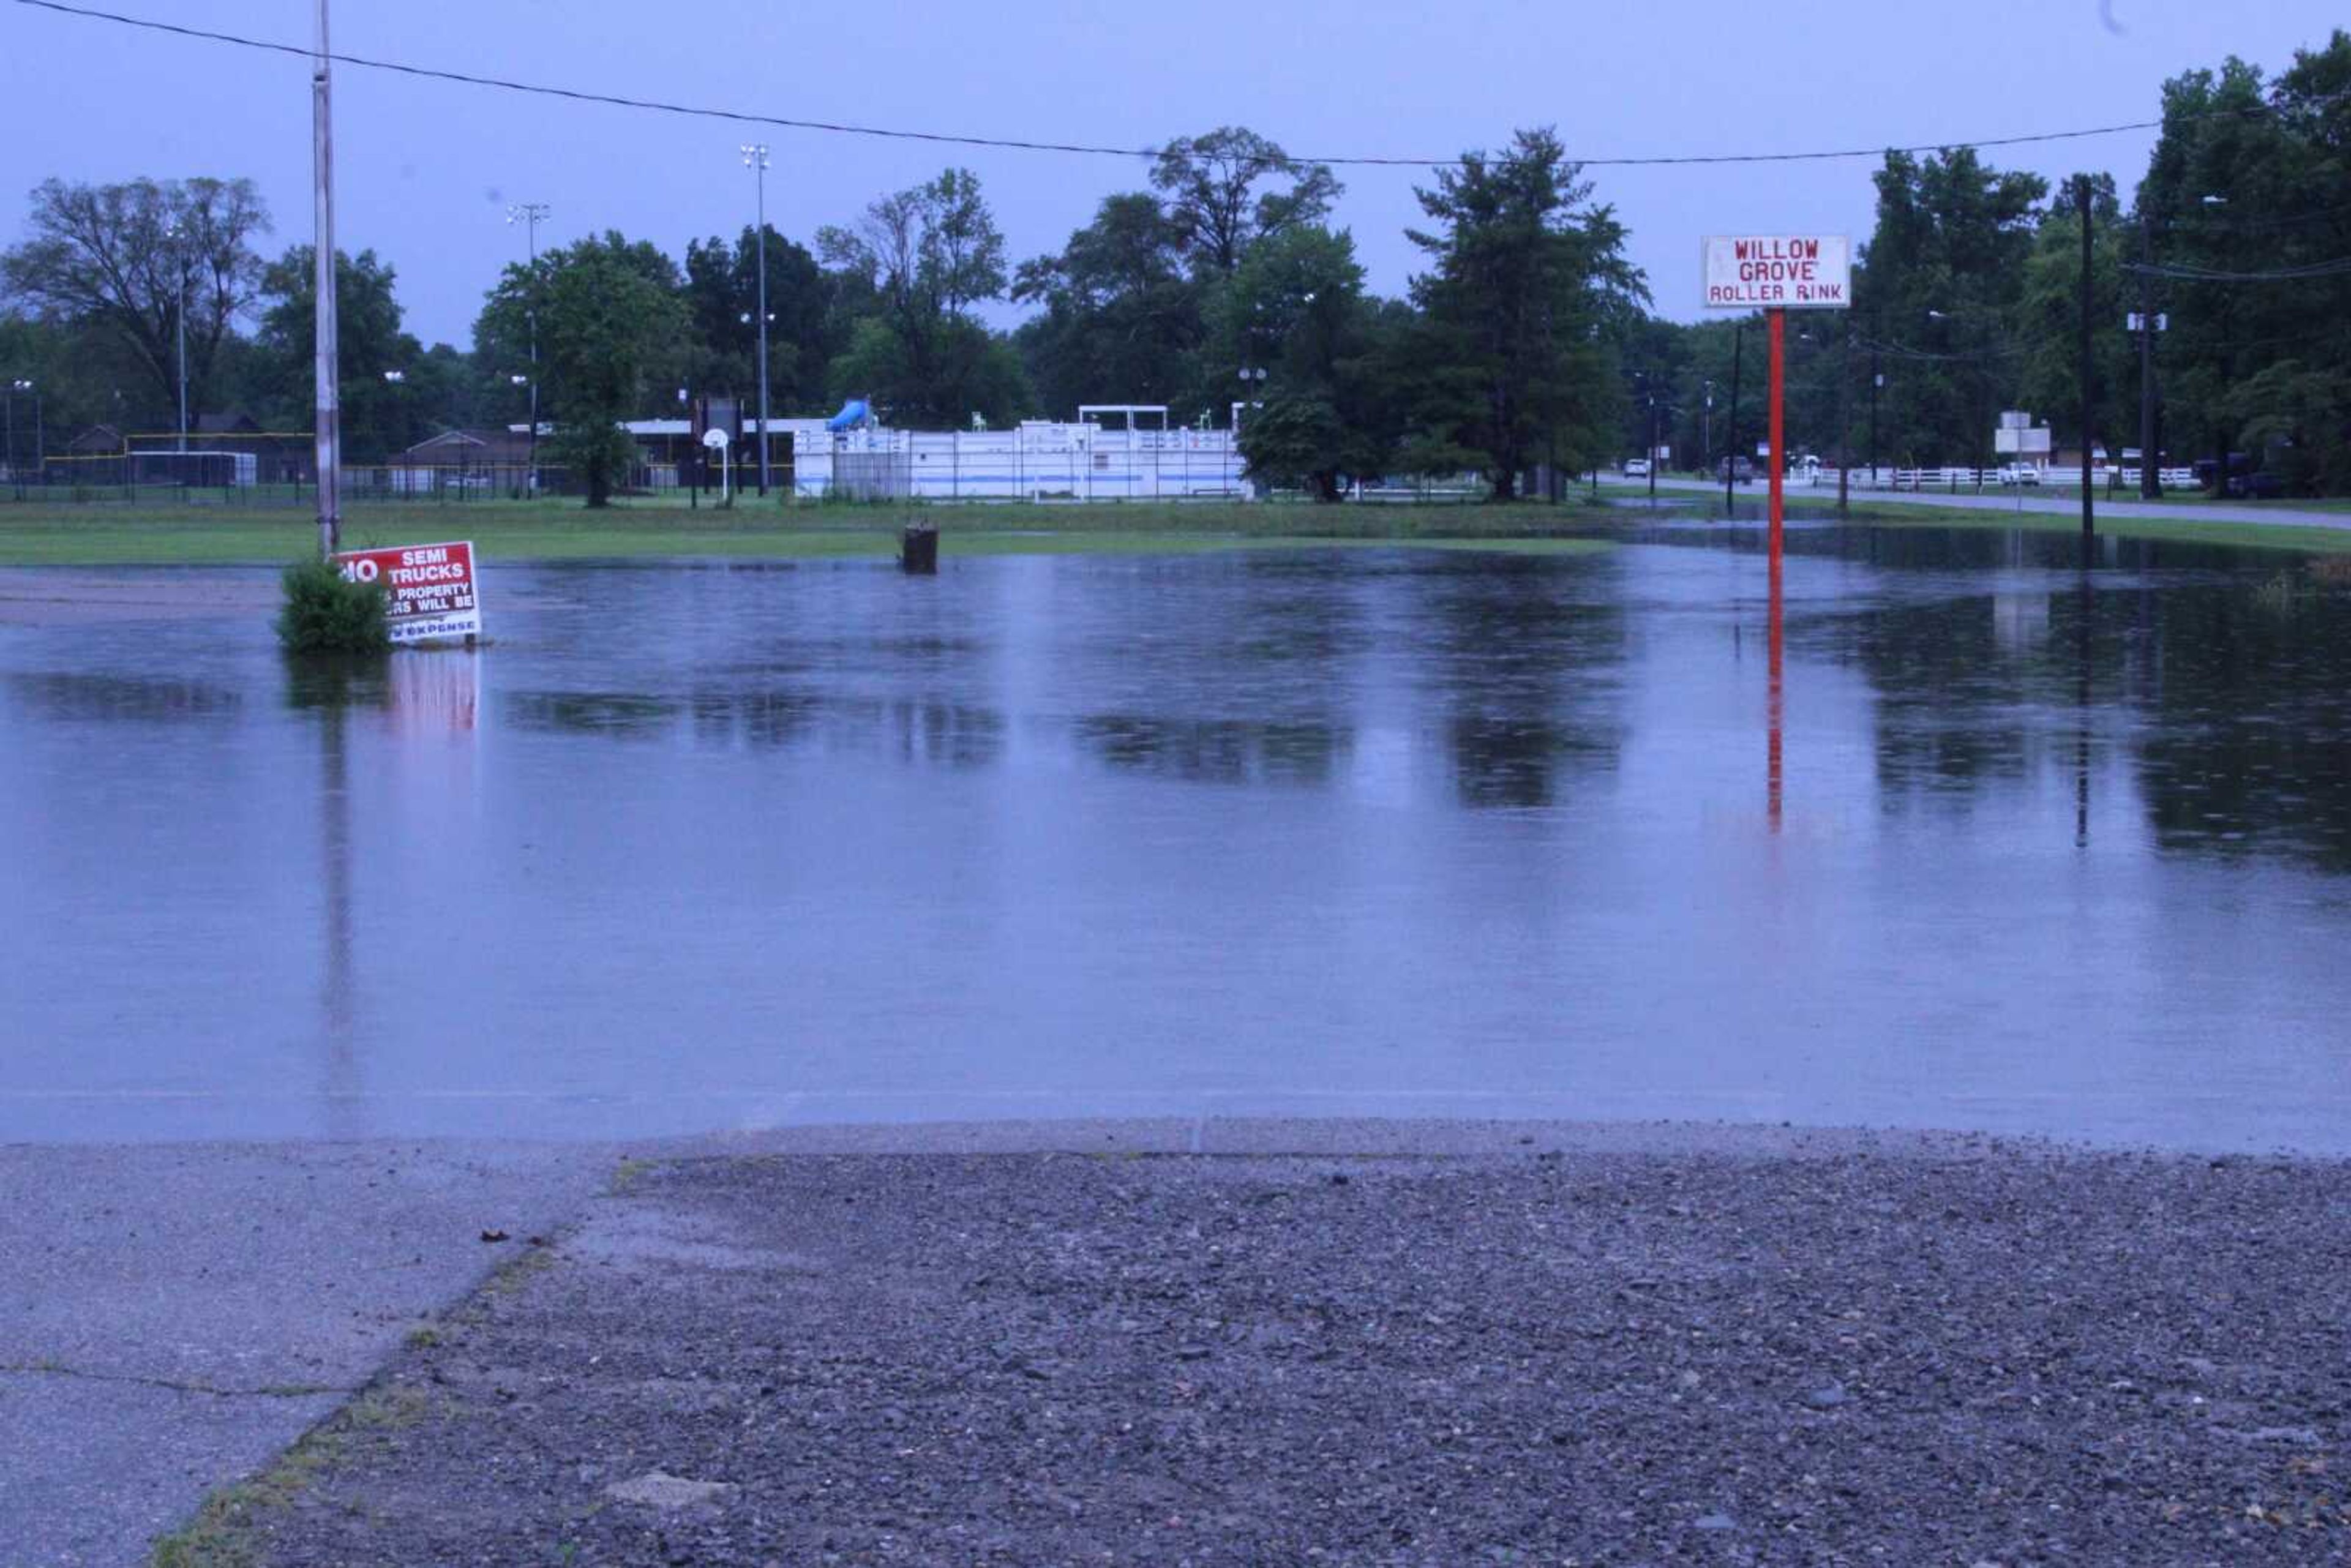
[[[1422,334],[1420,463],[1472,458],[1498,501],[1538,461],[1580,468],[1613,444],[1622,390],[1606,324],[1648,299],[1615,212],[1549,129],[1465,153],[1418,190],[1432,226],[1413,280]]]

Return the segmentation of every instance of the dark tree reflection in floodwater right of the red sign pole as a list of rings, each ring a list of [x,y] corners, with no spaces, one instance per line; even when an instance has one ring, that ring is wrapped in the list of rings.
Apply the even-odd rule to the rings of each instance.
[[[1888,809],[1970,816],[2064,766],[2085,846],[2114,750],[2161,849],[2351,870],[2351,592],[2292,557],[2248,571],[2224,550],[2102,541],[2114,569],[2081,571],[2067,536],[2005,541],[1806,541],[1904,564],[1860,604],[1815,607],[1801,632],[1808,654],[1869,677]],[[1989,583],[1951,571],[2017,555],[2036,567]]]

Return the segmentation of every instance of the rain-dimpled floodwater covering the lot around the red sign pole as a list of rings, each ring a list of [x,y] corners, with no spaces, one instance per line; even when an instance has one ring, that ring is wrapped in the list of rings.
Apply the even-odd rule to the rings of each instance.
[[[0,625],[0,1140],[1270,1112],[2351,1152],[2351,588],[1799,529],[1784,604],[1773,679],[1754,534],[1688,527],[491,562],[494,646],[360,672],[261,611]]]

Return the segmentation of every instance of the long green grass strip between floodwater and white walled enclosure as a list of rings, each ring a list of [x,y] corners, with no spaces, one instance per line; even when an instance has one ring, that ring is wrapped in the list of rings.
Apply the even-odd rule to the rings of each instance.
[[[936,522],[947,555],[1187,552],[1342,543],[1458,550],[1601,550],[1582,505],[959,505],[686,510],[576,501],[357,503],[343,545],[470,538],[487,559],[889,557],[898,529]],[[1568,536],[1578,531],[1580,536]],[[0,503],[0,567],[289,562],[315,548],[299,508]]]

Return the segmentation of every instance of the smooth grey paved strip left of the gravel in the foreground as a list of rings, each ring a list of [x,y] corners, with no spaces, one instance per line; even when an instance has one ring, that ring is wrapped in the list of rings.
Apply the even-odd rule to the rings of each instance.
[[[0,1147],[0,1561],[143,1563],[576,1213],[585,1145]],[[484,1244],[482,1232],[505,1232]]]

